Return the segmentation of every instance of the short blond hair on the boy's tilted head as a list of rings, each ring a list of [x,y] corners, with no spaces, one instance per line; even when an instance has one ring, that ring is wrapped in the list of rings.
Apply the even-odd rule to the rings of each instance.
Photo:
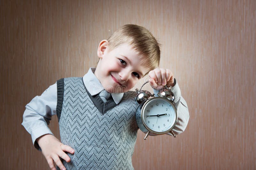
[[[142,62],[146,67],[152,70],[159,67],[160,44],[152,33],[142,26],[124,25],[108,38],[108,43],[109,51],[123,43],[128,43],[143,56]]]

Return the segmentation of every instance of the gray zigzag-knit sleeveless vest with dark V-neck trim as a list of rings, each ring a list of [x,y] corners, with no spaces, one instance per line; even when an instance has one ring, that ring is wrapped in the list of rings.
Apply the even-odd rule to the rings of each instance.
[[[61,142],[74,148],[67,169],[133,169],[132,154],[138,126],[136,92],[124,93],[116,105],[91,96],[82,77],[57,81],[57,116]]]

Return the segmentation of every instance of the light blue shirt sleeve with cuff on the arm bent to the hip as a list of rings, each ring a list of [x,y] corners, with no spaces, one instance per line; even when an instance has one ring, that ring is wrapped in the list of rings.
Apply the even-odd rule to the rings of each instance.
[[[25,107],[22,125],[30,133],[36,149],[40,150],[36,139],[44,134],[52,134],[47,125],[52,115],[56,115],[57,82],[49,86],[41,96],[34,97]]]

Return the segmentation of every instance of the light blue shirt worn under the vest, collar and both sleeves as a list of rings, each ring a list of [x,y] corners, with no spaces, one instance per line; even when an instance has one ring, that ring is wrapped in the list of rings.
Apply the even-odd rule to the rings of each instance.
[[[101,85],[100,81],[94,75],[96,68],[91,67],[88,72],[83,76],[83,82],[88,90],[88,92],[94,96],[104,90],[103,86]],[[157,94],[157,90],[154,90],[154,93]],[[178,83],[176,83],[172,88],[172,92],[175,95],[175,105],[178,108],[178,104],[181,102],[183,104],[185,112],[185,119],[184,119],[184,130],[188,123],[188,111],[187,110],[187,103],[181,97],[180,88]],[[118,104],[122,100],[124,93],[111,93],[112,98],[114,99],[115,103]],[[27,105],[26,110],[23,114],[23,122],[22,125],[31,134],[31,138],[33,144],[37,138],[45,134],[52,134],[52,131],[48,128],[49,120],[53,115],[56,115],[56,107],[57,107],[57,83],[49,86],[41,96],[34,97]],[[184,110],[182,109],[182,110]],[[181,111],[181,110],[180,110]]]

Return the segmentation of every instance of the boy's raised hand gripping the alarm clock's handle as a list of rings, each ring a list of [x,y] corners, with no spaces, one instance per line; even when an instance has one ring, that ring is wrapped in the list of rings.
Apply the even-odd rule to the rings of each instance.
[[[169,69],[156,68],[148,73],[150,77],[150,85],[153,89],[161,90],[167,87],[174,86],[174,75]]]

